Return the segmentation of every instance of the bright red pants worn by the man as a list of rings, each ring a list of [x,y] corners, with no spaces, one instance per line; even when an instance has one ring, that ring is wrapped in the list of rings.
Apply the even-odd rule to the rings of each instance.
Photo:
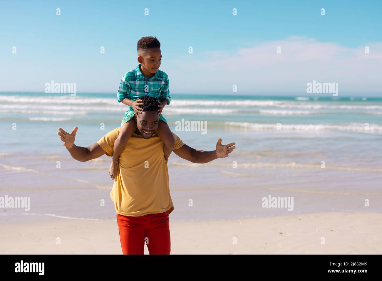
[[[117,214],[122,253],[143,255],[144,244],[149,254],[170,254],[170,224],[168,211],[144,216]]]

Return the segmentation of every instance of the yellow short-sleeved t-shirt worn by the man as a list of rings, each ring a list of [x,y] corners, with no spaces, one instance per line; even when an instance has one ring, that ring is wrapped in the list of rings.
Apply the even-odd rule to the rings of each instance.
[[[109,157],[121,127],[102,137],[97,144]],[[174,150],[184,145],[173,133]],[[150,139],[133,133],[120,155],[118,175],[110,198],[115,211],[124,216],[144,216],[174,210],[170,196],[168,168],[163,157],[163,142],[154,133]]]

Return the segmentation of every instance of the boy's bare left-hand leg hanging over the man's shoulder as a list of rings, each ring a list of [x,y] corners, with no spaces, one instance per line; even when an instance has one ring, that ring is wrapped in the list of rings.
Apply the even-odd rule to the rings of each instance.
[[[115,179],[115,177],[117,176],[119,157],[121,153],[123,152],[123,149],[125,149],[125,145],[127,144],[127,141],[133,135],[133,132],[135,131],[136,128],[137,128],[137,122],[135,121],[134,118],[131,118],[129,121],[127,121],[125,124],[122,125],[121,131],[114,142],[113,160],[109,168],[109,175],[110,175],[110,178],[112,179]]]

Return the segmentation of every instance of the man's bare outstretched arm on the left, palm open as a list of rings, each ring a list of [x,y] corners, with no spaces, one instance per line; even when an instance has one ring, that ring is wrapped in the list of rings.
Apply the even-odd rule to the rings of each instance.
[[[98,157],[101,157],[106,152],[99,146],[99,144],[95,143],[88,147],[81,147],[74,144],[74,139],[76,138],[76,132],[78,127],[75,127],[71,134],[65,132],[62,128],[58,129],[60,132],[57,132],[60,139],[63,141],[63,146],[69,151],[71,157],[75,160],[85,162]]]

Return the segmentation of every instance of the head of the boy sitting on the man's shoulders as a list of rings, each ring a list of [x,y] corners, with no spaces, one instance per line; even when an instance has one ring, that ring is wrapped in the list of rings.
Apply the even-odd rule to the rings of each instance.
[[[152,74],[155,74],[160,66],[162,53],[160,52],[160,42],[157,37],[147,36],[138,40],[137,44],[138,62],[141,67]]]

